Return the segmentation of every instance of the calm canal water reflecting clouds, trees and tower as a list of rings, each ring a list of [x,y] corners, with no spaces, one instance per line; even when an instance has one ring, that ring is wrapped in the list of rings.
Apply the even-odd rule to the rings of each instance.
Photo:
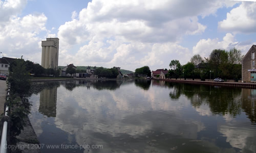
[[[255,152],[256,90],[164,81],[35,82],[42,152]]]

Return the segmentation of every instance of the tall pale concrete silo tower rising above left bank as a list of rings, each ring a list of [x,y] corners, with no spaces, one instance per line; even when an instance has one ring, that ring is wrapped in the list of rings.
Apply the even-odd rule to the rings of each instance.
[[[44,68],[57,69],[58,58],[59,58],[59,38],[46,38],[46,41],[42,41],[41,66]]]

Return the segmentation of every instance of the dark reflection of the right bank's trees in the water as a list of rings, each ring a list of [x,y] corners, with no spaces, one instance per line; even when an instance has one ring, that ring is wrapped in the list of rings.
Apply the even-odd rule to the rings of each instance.
[[[230,114],[235,117],[245,111],[252,123],[255,123],[256,90],[227,88],[205,85],[191,85],[175,82],[153,81],[153,85],[170,88],[171,100],[178,100],[182,95],[189,99],[194,108],[208,105],[212,114]]]

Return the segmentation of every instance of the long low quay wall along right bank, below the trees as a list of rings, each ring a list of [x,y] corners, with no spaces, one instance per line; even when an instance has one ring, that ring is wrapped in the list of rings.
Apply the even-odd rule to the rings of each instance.
[[[154,79],[158,81],[180,82],[188,84],[202,84],[210,86],[226,86],[256,89],[256,83],[240,83],[240,82],[211,82],[211,81],[195,81],[195,80],[174,80],[174,79]]]

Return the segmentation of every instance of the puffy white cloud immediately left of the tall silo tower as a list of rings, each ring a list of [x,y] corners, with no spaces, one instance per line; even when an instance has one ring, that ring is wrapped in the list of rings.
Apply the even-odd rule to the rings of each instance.
[[[41,38],[38,34],[46,31],[47,17],[44,14],[29,14],[22,18],[13,16],[0,28],[0,46],[5,56],[31,61],[40,61]]]

